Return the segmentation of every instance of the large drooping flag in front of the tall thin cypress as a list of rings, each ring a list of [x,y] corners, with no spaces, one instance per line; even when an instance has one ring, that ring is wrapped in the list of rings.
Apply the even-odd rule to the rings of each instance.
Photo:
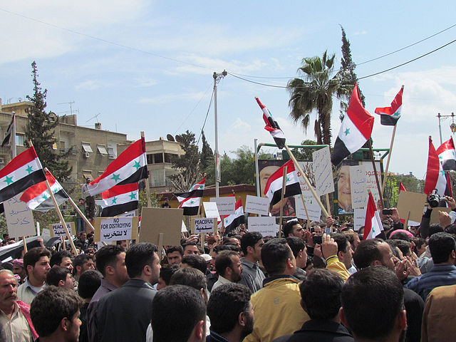
[[[361,103],[358,84],[355,84],[348,104],[347,114],[343,117],[341,130],[334,143],[331,162],[337,166],[351,153],[359,150],[371,138],[373,115]]]

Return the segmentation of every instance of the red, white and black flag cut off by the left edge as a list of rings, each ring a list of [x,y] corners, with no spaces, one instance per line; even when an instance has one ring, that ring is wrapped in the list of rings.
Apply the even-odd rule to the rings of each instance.
[[[32,146],[0,170],[0,203],[44,180],[43,167]]]

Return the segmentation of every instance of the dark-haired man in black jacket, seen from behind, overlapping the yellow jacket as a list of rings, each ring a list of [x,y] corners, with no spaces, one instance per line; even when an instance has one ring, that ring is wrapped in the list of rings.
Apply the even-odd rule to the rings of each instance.
[[[341,324],[343,279],[328,269],[314,269],[299,285],[301,306],[310,316],[301,330],[276,338],[274,342],[353,342],[353,336]]]

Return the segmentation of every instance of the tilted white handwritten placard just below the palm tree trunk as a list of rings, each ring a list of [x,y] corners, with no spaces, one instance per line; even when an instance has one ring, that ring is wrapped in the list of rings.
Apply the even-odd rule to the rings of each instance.
[[[312,152],[312,167],[315,176],[315,190],[318,195],[334,192],[333,167],[329,147]]]

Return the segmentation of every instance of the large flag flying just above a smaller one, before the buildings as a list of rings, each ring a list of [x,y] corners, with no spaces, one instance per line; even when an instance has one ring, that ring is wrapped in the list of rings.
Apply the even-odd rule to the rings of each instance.
[[[85,192],[89,196],[95,196],[116,185],[138,183],[144,178],[147,178],[147,160],[142,137],[120,153],[117,159],[106,167],[103,175],[88,183]]]

